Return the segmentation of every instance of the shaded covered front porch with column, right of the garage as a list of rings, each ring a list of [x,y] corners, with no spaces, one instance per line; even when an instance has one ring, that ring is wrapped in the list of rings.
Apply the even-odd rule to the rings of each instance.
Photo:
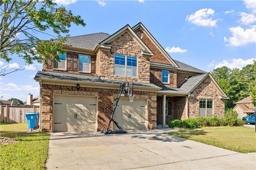
[[[188,96],[157,96],[157,127],[167,127],[172,120],[188,118]]]

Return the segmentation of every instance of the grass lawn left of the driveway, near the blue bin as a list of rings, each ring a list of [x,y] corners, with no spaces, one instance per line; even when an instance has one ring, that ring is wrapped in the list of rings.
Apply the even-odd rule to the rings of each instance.
[[[17,143],[0,145],[1,169],[45,169],[48,133],[27,133],[27,124],[0,124],[0,136]]]

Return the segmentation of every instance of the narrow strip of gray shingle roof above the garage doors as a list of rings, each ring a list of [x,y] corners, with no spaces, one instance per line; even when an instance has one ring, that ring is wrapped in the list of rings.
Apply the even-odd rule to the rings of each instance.
[[[100,79],[97,76],[85,75],[85,74],[74,74],[74,73],[63,73],[63,72],[52,72],[52,71],[38,71],[35,75],[38,79],[52,79],[52,80],[73,80],[73,81],[83,81],[83,82],[98,82],[98,83],[109,83],[109,84],[120,84],[126,81],[117,80],[106,80]],[[133,83],[134,86],[142,87],[152,87],[159,88],[155,84],[151,83]]]

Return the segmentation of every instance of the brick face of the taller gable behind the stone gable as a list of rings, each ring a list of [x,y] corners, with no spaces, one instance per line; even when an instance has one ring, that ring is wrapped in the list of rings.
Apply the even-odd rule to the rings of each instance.
[[[166,57],[160,52],[160,50],[155,46],[155,44],[147,37],[147,35],[140,28],[138,28],[134,32],[142,33],[142,41],[148,46],[148,48],[151,50],[151,52],[154,53],[154,55],[150,57],[151,62],[171,64],[166,59]]]

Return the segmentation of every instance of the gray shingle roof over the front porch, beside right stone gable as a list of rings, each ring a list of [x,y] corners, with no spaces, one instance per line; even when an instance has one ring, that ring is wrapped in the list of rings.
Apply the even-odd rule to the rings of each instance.
[[[207,75],[209,75],[209,74],[205,73],[205,74],[195,75],[195,76],[189,78],[185,83],[183,83],[180,88],[164,87],[164,88],[162,88],[161,91],[188,94]]]

